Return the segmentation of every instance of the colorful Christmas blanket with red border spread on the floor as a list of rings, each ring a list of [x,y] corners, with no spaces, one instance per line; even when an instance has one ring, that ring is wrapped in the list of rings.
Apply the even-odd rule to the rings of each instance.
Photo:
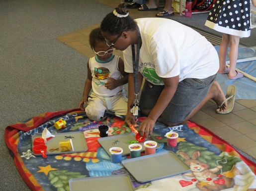
[[[116,131],[120,131],[120,133],[117,133],[116,135],[121,134],[122,131],[124,131],[122,133],[129,133],[129,129],[124,126],[123,119],[111,117],[107,118],[104,122],[91,122],[81,111],[77,111],[75,113],[72,112],[72,115],[67,113],[65,116],[63,116],[64,113],[65,112],[62,111],[61,114],[58,113],[56,117],[51,114],[51,118],[48,120],[39,119],[36,117],[34,120],[36,121],[36,128],[34,129],[31,129],[30,127],[23,128],[24,122],[14,124],[13,126],[6,128],[7,132],[9,132],[7,145],[8,147],[11,147],[12,150],[16,151],[15,153],[18,153],[16,154],[16,158],[18,159],[17,162],[19,162],[22,167],[22,169],[19,170],[21,170],[21,172],[25,172],[26,177],[24,180],[29,180],[29,184],[31,182],[33,183],[33,190],[43,189],[40,187],[41,184],[44,187],[44,190],[47,191],[55,191],[55,188],[59,188],[60,185],[60,188],[68,189],[69,186],[67,180],[73,178],[129,174],[129,172],[127,172],[120,165],[111,163],[109,155],[97,141],[99,136],[94,137],[95,135],[88,134],[88,132],[96,132],[98,126],[101,124],[106,124],[110,127],[110,129],[113,129],[109,132],[110,135],[112,135],[111,132],[116,133]],[[80,115],[84,117],[80,117]],[[49,154],[49,156],[47,156],[47,160],[43,160],[41,157],[31,157],[30,160],[25,158],[27,156],[22,157],[24,153],[28,151],[28,149],[31,150],[31,137],[34,134],[42,132],[45,128],[49,129],[51,132],[63,132],[56,130],[55,126],[53,125],[54,122],[60,118],[65,118],[67,121],[68,125],[65,129],[66,131],[84,132],[88,150],[86,152],[61,153],[59,155]],[[38,126],[39,122],[42,123],[40,126]],[[22,133],[21,131],[18,132],[16,129],[13,129],[14,127],[18,128],[18,130],[31,130],[29,130],[27,133]],[[240,154],[236,152],[232,146],[227,143],[223,143],[222,140],[212,135],[209,131],[206,131],[205,128],[200,127],[190,121],[186,125],[171,128],[165,128],[161,123],[157,123],[157,127],[159,128],[155,129],[153,137],[158,143],[161,144],[161,148],[158,149],[158,152],[171,150],[179,156],[180,151],[183,151],[188,154],[187,159],[182,159],[184,162],[192,160],[193,157],[193,160],[198,160],[198,163],[205,163],[209,165],[205,171],[210,171],[211,169],[216,168],[216,162],[217,165],[221,164],[222,168],[220,172],[214,173],[214,178],[211,178],[211,181],[207,181],[207,179],[210,179],[210,176],[208,175],[203,176],[202,179],[205,180],[201,180],[200,178],[192,178],[190,180],[189,177],[195,177],[194,175],[188,177],[185,175],[177,175],[180,176],[181,180],[179,178],[177,179],[175,176],[173,179],[169,177],[166,180],[161,179],[159,181],[156,180],[148,183],[139,183],[134,179],[131,179],[133,187],[136,188],[136,190],[143,190],[143,188],[149,188],[149,190],[155,190],[155,188],[157,188],[156,190],[168,190],[170,180],[171,186],[173,188],[177,188],[175,190],[180,190],[182,187],[182,190],[184,191],[195,189],[206,190],[207,188],[211,190],[212,187],[218,187],[218,190],[223,190],[227,185],[229,185],[230,189],[238,187],[247,190],[249,186],[255,186],[254,184],[256,183],[256,179],[253,173],[255,172],[255,165],[251,163],[249,159],[241,160],[242,158]],[[178,132],[179,134],[177,139],[178,144],[176,147],[167,146],[167,139],[164,135],[170,131]],[[200,153],[200,155],[197,157],[198,159],[195,157],[195,155],[193,155],[193,153]],[[123,159],[128,158],[129,157],[123,156]],[[42,166],[38,166],[38,164]],[[249,164],[249,167],[254,170],[253,172],[250,171],[247,164]],[[51,165],[53,165],[55,168],[53,168]],[[238,175],[240,176],[237,177]],[[249,179],[248,177],[253,177],[253,179]],[[65,178],[65,180],[63,178]],[[237,184],[234,187],[235,178],[239,181],[236,182]],[[159,183],[163,185],[162,189],[159,188]]]

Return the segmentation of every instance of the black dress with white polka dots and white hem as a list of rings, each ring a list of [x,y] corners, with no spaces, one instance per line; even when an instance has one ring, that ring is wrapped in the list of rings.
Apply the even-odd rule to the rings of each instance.
[[[205,26],[221,33],[249,37],[250,0],[216,0]]]

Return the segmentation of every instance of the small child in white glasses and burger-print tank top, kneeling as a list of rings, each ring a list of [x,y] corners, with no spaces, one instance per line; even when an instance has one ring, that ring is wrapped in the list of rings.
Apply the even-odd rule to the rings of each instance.
[[[124,72],[123,59],[113,54],[114,48],[106,45],[100,28],[90,32],[89,43],[96,56],[87,62],[87,79],[79,108],[85,110],[90,120],[99,120],[105,110],[126,115],[127,96],[124,84],[128,82],[128,74]]]

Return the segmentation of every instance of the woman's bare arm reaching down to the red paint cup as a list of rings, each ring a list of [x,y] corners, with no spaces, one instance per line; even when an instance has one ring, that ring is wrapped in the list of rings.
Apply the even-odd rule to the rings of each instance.
[[[159,96],[156,105],[150,111],[148,117],[139,126],[139,133],[141,136],[145,133],[145,138],[152,135],[157,119],[163,113],[175,94],[179,82],[179,76],[162,78],[162,80],[165,84],[165,88]]]

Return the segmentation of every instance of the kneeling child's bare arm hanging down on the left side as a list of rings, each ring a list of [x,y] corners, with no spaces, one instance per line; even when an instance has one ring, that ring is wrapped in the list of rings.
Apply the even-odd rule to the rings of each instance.
[[[84,87],[84,92],[83,92],[83,97],[79,102],[78,107],[81,110],[85,110],[84,104],[86,104],[87,99],[88,99],[88,95],[90,93],[91,90],[91,81],[92,81],[92,76],[91,76],[91,72],[90,72],[90,67],[89,67],[89,60],[87,61],[87,79],[85,80],[85,87]]]

